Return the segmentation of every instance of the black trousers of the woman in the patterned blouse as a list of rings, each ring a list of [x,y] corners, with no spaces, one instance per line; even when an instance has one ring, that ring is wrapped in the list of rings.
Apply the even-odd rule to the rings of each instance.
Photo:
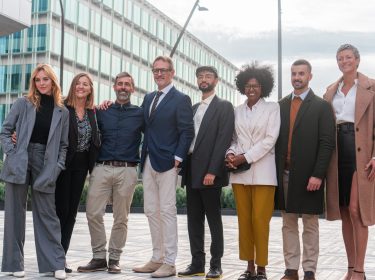
[[[56,181],[56,214],[60,219],[61,245],[68,252],[83,186],[88,172],[88,152],[76,153],[71,166]]]

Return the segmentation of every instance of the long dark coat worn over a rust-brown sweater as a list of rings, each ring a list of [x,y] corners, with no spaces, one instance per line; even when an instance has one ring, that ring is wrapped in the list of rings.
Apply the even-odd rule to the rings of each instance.
[[[276,142],[278,188],[275,208],[288,213],[323,213],[324,182],[318,191],[306,190],[311,176],[324,179],[335,147],[335,120],[331,105],[310,89],[297,113],[292,134],[289,184],[285,205],[283,173],[288,151],[290,106],[292,95],[279,101],[281,127]]]

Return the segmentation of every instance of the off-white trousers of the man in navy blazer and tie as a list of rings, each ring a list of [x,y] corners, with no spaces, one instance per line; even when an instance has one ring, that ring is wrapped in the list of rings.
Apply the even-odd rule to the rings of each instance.
[[[143,170],[144,211],[152,239],[152,261],[174,265],[177,257],[177,169],[155,171],[147,156]]]

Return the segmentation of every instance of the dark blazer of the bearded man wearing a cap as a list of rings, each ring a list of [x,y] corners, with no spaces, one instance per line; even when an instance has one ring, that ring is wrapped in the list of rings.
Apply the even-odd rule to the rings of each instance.
[[[199,106],[193,106],[193,112]],[[203,185],[203,178],[207,173],[214,174],[214,185],[210,187],[224,187],[228,185],[229,175],[225,168],[225,152],[230,146],[234,131],[234,108],[224,99],[215,96],[202,119],[201,126],[194,144],[193,154],[189,166],[183,165],[181,172],[182,186],[192,188],[207,188]],[[191,172],[186,172],[191,168]],[[187,174],[191,173],[191,178]]]

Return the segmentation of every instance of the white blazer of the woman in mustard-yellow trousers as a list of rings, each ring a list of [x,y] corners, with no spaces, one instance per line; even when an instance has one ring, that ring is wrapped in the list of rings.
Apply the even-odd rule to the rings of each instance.
[[[230,183],[244,185],[277,185],[275,144],[280,131],[280,107],[263,98],[253,106],[251,119],[246,116],[247,101],[235,111],[235,131],[228,153],[244,154],[249,170],[231,173]]]

